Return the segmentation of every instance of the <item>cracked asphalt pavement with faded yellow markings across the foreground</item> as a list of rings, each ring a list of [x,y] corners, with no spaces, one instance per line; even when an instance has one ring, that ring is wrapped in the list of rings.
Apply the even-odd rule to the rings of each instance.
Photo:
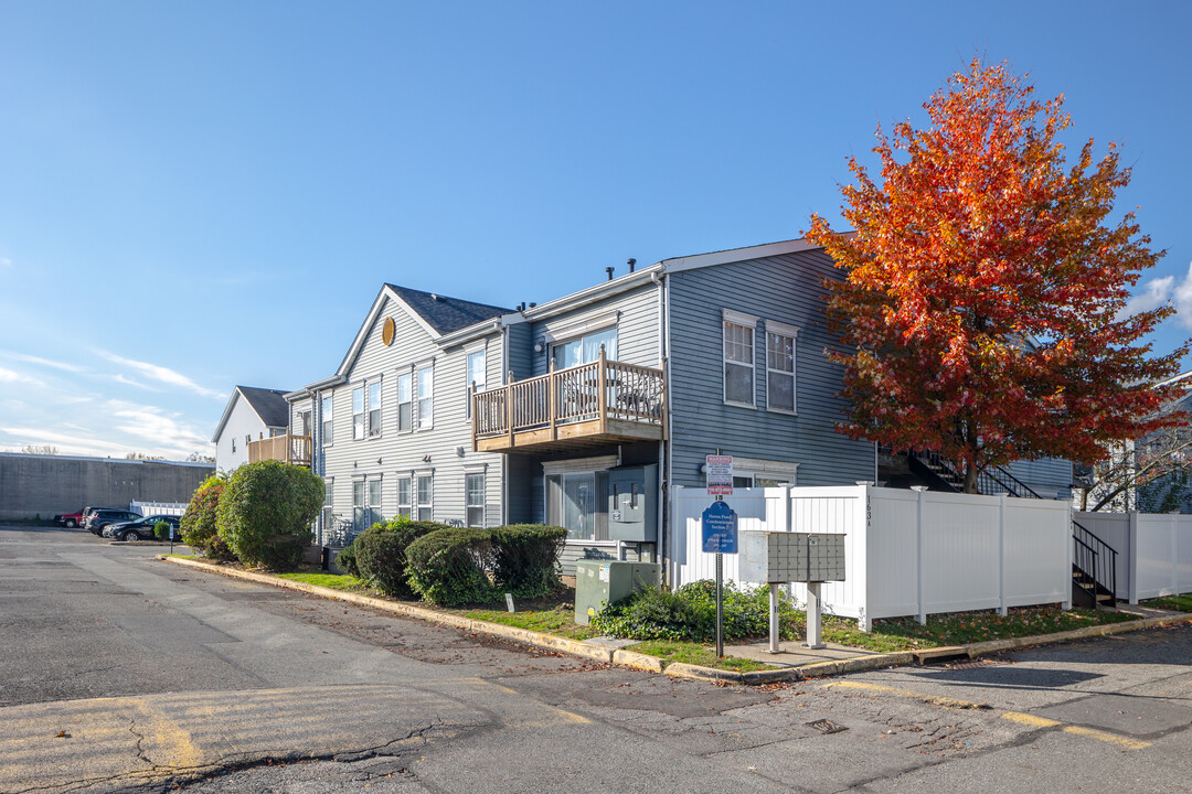
[[[159,550],[0,527],[0,793],[1192,781],[1188,627],[746,688],[179,569]]]

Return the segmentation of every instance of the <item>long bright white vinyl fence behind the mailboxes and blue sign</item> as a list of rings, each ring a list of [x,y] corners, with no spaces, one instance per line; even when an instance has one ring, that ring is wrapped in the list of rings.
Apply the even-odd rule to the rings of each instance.
[[[702,488],[676,488],[671,504],[671,581],[715,575],[704,554]],[[1072,518],[1064,501],[975,496],[848,486],[741,488],[726,496],[738,531],[836,532],[846,536],[844,582],[821,588],[824,608],[876,618],[1072,602]],[[1089,527],[1092,529],[1092,527]],[[737,579],[735,555],[725,579]],[[806,588],[793,594],[806,600]]]

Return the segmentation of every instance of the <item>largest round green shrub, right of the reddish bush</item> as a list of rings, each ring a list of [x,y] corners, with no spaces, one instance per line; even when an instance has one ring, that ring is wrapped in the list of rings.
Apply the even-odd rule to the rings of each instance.
[[[247,463],[228,477],[216,527],[241,562],[287,570],[302,563],[322,506],[318,475],[281,461]]]

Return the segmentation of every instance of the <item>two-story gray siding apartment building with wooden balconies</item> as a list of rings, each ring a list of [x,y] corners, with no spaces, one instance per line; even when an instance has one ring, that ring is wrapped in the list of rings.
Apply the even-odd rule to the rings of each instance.
[[[824,283],[838,277],[800,239],[631,265],[517,308],[385,285],[335,374],[286,395],[327,482],[323,540],[398,514],[546,521],[570,532],[570,573],[619,554],[609,498],[629,469],[654,475],[633,499],[658,543],[622,550],[647,559],[668,490],[702,486],[707,455],[732,455],[739,487],[877,481],[875,446],[836,432]],[[1067,495],[1067,463],[1020,471]]]

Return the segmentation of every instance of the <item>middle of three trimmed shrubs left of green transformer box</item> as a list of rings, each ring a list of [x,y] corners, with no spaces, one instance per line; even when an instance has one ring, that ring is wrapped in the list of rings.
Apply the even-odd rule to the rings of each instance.
[[[491,601],[497,589],[485,573],[492,554],[488,530],[448,527],[405,550],[410,589],[440,606]]]

